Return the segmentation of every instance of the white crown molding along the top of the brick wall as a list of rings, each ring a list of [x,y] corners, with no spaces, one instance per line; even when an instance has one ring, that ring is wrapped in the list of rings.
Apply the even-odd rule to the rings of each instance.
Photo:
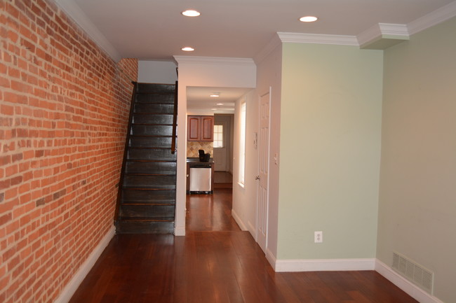
[[[93,39],[93,41],[107,52],[107,55],[111,57],[115,62],[119,62],[122,59],[121,55],[117,50],[112,46],[107,38],[95,27],[95,24],[91,22],[87,15],[83,13],[81,8],[76,4],[76,1],[72,0],[55,0],[55,3],[69,16],[71,17],[76,24],[78,24],[83,31],[86,31],[88,36]]]

